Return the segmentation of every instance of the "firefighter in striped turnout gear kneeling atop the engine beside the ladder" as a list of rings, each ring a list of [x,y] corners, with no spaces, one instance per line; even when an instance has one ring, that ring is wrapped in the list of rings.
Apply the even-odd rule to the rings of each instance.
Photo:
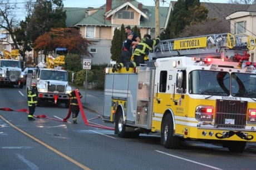
[[[145,34],[144,38],[141,39],[141,42],[137,45],[134,53],[132,54],[132,62],[126,64],[126,70],[128,71],[129,68],[135,68],[140,64],[144,64],[145,58],[149,54],[149,51],[160,42],[160,37],[156,37],[154,40],[151,39],[149,34]]]

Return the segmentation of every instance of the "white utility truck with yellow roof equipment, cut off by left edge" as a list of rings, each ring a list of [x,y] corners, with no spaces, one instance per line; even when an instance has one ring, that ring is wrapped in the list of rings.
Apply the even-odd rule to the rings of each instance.
[[[25,78],[21,69],[19,50],[8,51],[3,49],[3,56],[0,56],[0,85],[12,84],[23,88]]]

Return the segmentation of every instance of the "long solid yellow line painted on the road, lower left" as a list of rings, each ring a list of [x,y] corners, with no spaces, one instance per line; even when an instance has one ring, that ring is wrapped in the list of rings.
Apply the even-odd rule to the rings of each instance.
[[[60,151],[56,150],[55,148],[51,147],[50,145],[47,145],[46,143],[38,140],[36,137],[29,135],[27,132],[21,130],[20,128],[18,128],[17,126],[13,125],[11,122],[9,122],[8,120],[4,119],[4,117],[2,115],[0,115],[0,118],[2,120],[4,120],[5,122],[7,122],[9,125],[11,125],[12,127],[16,128],[16,130],[18,130],[19,132],[23,133],[24,135],[28,136],[29,138],[32,138],[33,140],[35,140],[36,142],[40,143],[41,145],[45,146],[46,148],[48,148],[49,150],[59,154],[60,156],[62,156],[63,158],[67,159],[68,161],[76,164],[78,167],[81,167],[82,169],[90,169],[86,166],[84,166],[83,164],[77,162],[75,159],[72,159],[71,157],[66,156],[66,154],[61,153]]]

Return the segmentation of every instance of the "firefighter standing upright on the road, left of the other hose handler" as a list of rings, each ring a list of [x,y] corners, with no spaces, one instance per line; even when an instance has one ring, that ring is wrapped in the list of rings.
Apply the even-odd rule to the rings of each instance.
[[[33,114],[36,110],[36,105],[37,105],[37,90],[36,90],[36,84],[32,83],[31,85],[31,90],[28,91],[28,120],[29,121],[34,121],[35,119],[33,118]]]

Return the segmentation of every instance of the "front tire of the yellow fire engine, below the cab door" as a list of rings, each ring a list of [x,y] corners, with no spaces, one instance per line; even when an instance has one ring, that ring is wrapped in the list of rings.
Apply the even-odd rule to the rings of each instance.
[[[168,114],[165,116],[164,126],[161,132],[161,142],[163,142],[163,145],[165,148],[174,149],[179,146],[180,138],[173,136],[173,133],[174,133],[173,129],[174,129],[173,119],[171,118],[171,115]]]

